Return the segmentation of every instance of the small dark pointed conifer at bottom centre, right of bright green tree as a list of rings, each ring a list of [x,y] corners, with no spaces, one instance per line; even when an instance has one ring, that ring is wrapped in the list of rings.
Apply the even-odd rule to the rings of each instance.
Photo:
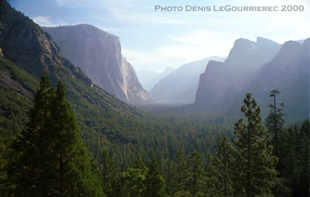
[[[145,176],[145,197],[165,196],[165,180],[161,177],[156,160],[153,158]]]

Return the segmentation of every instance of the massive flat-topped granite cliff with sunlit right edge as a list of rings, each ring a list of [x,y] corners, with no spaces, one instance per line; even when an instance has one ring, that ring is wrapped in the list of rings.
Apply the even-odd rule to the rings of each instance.
[[[122,101],[150,103],[132,65],[121,54],[121,41],[93,25],[42,28],[59,45],[63,56],[94,82]]]

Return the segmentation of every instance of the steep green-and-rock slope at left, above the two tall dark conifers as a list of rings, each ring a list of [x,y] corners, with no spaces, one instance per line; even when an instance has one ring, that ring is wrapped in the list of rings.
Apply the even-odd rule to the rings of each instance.
[[[48,72],[52,86],[59,79],[76,114],[83,139],[96,156],[103,148],[103,132],[118,127],[120,118],[138,118],[142,112],[127,105],[90,79],[61,56],[50,34],[43,32],[6,1],[0,1],[0,129],[2,136],[20,132],[37,91],[38,77]]]

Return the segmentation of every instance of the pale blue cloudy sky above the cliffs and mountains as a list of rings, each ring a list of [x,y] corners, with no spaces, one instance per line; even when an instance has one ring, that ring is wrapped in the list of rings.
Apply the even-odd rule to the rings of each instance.
[[[209,56],[228,56],[239,38],[285,43],[310,37],[310,0],[8,0],[41,26],[87,23],[121,38],[135,70],[163,72]],[[180,6],[182,11],[155,11]],[[211,11],[186,11],[210,6]],[[220,6],[277,6],[278,11],[215,11]],[[303,11],[282,11],[298,6]],[[289,9],[289,8],[287,8]]]

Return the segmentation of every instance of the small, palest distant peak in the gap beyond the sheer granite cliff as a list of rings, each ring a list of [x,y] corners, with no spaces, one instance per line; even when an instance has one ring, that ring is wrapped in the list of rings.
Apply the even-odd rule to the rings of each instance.
[[[136,72],[138,79],[147,91],[152,90],[154,85],[158,83],[161,79],[167,76],[169,73],[173,72],[175,69],[171,67],[165,68],[164,72],[154,72],[149,70],[139,70]]]

